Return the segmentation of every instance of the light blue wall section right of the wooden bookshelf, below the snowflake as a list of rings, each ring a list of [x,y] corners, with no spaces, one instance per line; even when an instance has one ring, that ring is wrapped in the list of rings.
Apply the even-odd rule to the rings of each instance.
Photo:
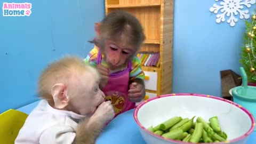
[[[216,15],[209,11],[214,3],[214,0],[175,0],[174,93],[221,97],[220,70],[232,69],[239,74],[244,20],[238,20],[235,27],[230,27],[226,22],[216,23]],[[249,9],[250,12],[254,8],[255,5]]]

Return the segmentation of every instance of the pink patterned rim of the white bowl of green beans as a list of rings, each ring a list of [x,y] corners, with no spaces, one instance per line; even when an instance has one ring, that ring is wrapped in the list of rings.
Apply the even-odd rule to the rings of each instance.
[[[230,103],[231,105],[235,105],[236,107],[242,109],[247,115],[249,115],[250,119],[251,119],[251,122],[252,122],[252,125],[251,125],[251,128],[248,132],[246,132],[244,135],[242,135],[241,137],[238,137],[236,139],[233,139],[233,140],[227,140],[227,141],[223,141],[223,142],[213,142],[213,143],[229,143],[229,142],[236,142],[236,141],[239,141],[239,140],[242,140],[244,139],[245,137],[247,137],[248,135],[250,135],[253,130],[254,130],[254,127],[255,127],[255,119],[254,117],[252,116],[252,114],[250,113],[250,111],[248,111],[247,109],[243,108],[242,106],[238,105],[237,103],[233,102],[233,101],[230,101],[230,100],[227,100],[227,99],[223,99],[223,98],[219,98],[219,97],[214,97],[212,95],[205,95],[205,94],[193,94],[193,93],[178,93],[178,94],[165,94],[165,95],[160,95],[160,96],[157,96],[157,97],[154,97],[154,98],[151,98],[151,99],[148,99],[148,100],[145,100],[143,102],[141,102],[134,110],[134,113],[133,113],[133,118],[135,119],[135,122],[141,127],[141,129],[143,129],[144,131],[146,131],[147,133],[151,134],[151,135],[154,135],[156,138],[158,139],[162,139],[162,140],[166,140],[166,141],[170,141],[170,142],[177,142],[177,143],[190,143],[190,142],[183,142],[183,141],[178,141],[178,140],[171,140],[171,139],[165,139],[157,134],[154,134],[153,132],[150,132],[146,129],[146,127],[142,126],[140,124],[140,122],[138,121],[138,118],[137,118],[137,115],[138,115],[138,111],[139,109],[145,105],[145,103],[149,102],[149,101],[152,101],[152,100],[155,100],[155,99],[158,99],[158,98],[163,98],[163,97],[173,97],[173,96],[188,96],[188,95],[191,95],[191,96],[194,96],[194,97],[206,97],[206,98],[211,98],[211,99],[217,99],[217,100],[221,100],[221,101],[225,101],[225,102],[228,102]],[[203,143],[202,143],[203,144]],[[212,143],[204,143],[204,144],[212,144]]]

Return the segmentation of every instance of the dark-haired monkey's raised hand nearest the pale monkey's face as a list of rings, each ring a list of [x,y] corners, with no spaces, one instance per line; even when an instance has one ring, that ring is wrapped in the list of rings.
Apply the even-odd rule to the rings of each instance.
[[[101,64],[97,65],[97,69],[101,75],[100,89],[103,89],[103,87],[105,87],[105,85],[108,82],[108,77],[109,77],[110,71],[108,68],[104,67]]]

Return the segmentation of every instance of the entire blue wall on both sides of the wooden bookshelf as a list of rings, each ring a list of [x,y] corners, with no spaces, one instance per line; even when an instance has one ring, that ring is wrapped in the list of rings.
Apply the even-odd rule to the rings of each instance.
[[[7,1],[6,1],[7,2]],[[47,63],[65,54],[85,57],[94,22],[104,16],[104,1],[30,2],[30,17],[0,15],[0,113],[36,101],[36,82]],[[215,1],[175,0],[173,92],[220,96],[220,70],[238,73],[245,29],[215,23]],[[1,3],[2,7],[2,3]],[[170,55],[171,57],[171,55]],[[238,73],[239,74],[239,73]]]

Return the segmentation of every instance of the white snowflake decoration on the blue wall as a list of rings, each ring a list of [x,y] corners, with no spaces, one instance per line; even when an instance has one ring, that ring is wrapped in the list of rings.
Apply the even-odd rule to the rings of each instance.
[[[220,5],[213,4],[210,7],[210,11],[217,14],[219,11],[221,14],[216,15],[216,22],[224,22],[225,17],[229,17],[227,22],[231,27],[234,27],[238,19],[235,17],[239,13],[240,19],[249,19],[249,10],[243,10],[244,5],[249,8],[255,3],[255,0],[215,0],[216,2],[221,1]]]

